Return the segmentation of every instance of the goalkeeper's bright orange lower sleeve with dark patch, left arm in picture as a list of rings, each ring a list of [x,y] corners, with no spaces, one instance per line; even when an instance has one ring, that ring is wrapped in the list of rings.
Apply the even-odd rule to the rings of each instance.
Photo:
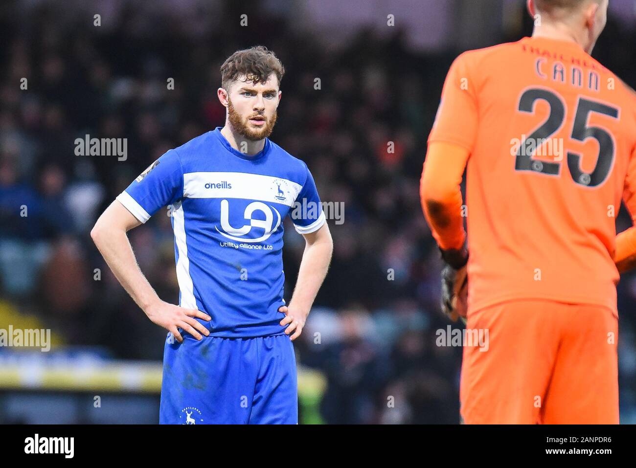
[[[422,209],[439,247],[460,249],[466,240],[460,183],[468,151],[457,145],[433,142],[426,155],[420,197]]]

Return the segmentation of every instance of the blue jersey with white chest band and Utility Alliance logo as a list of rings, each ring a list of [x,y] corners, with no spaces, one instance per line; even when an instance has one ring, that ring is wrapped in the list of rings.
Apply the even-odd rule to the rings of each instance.
[[[265,139],[247,156],[221,128],[170,149],[117,196],[145,223],[169,207],[179,305],[212,317],[212,336],[284,332],[283,219],[311,233],[325,223],[307,165]]]

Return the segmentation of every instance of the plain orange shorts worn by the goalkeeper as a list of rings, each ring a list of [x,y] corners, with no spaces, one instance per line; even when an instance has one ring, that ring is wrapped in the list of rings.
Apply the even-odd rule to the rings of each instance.
[[[616,312],[523,299],[469,313],[466,329],[485,340],[464,343],[464,423],[618,424]]]

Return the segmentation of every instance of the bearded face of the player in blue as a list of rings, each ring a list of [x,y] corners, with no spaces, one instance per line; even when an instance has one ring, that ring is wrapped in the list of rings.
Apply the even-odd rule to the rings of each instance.
[[[255,92],[247,92],[244,88],[235,93],[235,99],[228,95],[228,118],[235,132],[250,141],[258,141],[272,134],[276,123],[278,106],[278,93],[263,93],[258,88],[266,88],[270,85],[268,80],[263,85],[251,85]]]

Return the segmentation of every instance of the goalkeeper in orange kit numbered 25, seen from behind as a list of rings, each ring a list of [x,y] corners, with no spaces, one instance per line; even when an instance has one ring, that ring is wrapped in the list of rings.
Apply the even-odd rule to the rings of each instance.
[[[531,38],[453,62],[422,174],[448,264],[443,309],[489,336],[487,350],[464,347],[460,411],[618,423],[616,284],[636,263],[636,228],[617,237],[614,214],[622,198],[636,215],[636,94],[590,56],[607,0],[527,6]]]

